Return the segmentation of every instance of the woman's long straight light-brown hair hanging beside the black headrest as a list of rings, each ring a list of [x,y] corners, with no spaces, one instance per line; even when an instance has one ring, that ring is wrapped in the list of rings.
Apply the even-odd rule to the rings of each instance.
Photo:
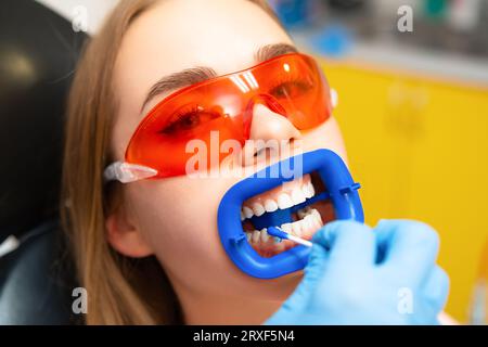
[[[131,259],[106,240],[117,190],[104,187],[117,112],[114,63],[131,22],[158,0],[123,0],[85,48],[68,99],[61,215],[77,278],[88,293],[87,324],[183,323],[176,293],[154,257]],[[266,1],[249,0],[274,20]],[[111,200],[108,200],[111,197]]]

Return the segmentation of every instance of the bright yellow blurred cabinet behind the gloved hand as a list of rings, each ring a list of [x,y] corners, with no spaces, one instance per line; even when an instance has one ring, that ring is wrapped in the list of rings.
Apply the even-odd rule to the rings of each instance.
[[[488,237],[488,88],[323,62],[367,222],[412,218],[440,234],[447,311],[466,322]]]

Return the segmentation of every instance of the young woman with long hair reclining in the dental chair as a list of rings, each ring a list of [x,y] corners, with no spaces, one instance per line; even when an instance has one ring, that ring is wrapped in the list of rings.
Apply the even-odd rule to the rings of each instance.
[[[87,323],[259,324],[295,290],[303,273],[252,278],[236,269],[220,244],[218,205],[244,177],[172,175],[129,184],[103,178],[110,164],[124,162],[142,119],[168,95],[295,52],[259,0],[129,0],[108,16],[76,72],[63,169],[63,217],[88,291]],[[280,93],[280,85],[275,88]],[[280,140],[298,152],[331,149],[346,159],[330,115],[300,128],[266,100],[252,114],[251,140]],[[211,116],[185,111],[160,131],[191,128]],[[260,151],[247,147],[233,164],[257,168]],[[307,178],[293,181],[249,202],[244,218],[278,208],[286,200],[280,195],[296,189],[313,193]],[[322,222],[317,219],[308,236]],[[266,235],[249,234],[256,250],[269,243],[275,247]]]

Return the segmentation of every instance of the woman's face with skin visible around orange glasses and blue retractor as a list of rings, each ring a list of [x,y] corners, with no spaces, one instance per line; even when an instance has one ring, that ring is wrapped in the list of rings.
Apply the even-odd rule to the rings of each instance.
[[[111,145],[116,159],[124,159],[144,115],[175,91],[164,91],[144,103],[159,79],[197,66],[210,67],[218,75],[241,70],[258,63],[258,52],[265,56],[286,53],[283,43],[293,46],[269,14],[245,0],[166,0],[142,13],[125,35],[115,65],[119,111]],[[293,141],[299,143],[299,152],[326,147],[345,158],[334,118],[300,132],[286,118],[259,105],[254,108],[251,139]],[[256,160],[240,163],[259,165]],[[242,178],[180,176],[126,184],[123,215],[107,218],[108,240],[128,256],[154,254],[177,292],[284,299],[300,273],[275,280],[251,278],[231,262],[220,244],[217,209],[224,192]],[[270,198],[277,196],[274,192]]]

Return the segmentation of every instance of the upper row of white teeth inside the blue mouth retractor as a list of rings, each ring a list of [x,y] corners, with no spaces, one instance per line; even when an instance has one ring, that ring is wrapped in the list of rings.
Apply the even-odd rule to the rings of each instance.
[[[262,216],[265,211],[273,213],[277,209],[286,209],[292,206],[301,204],[306,198],[310,198],[316,194],[316,190],[311,182],[304,183],[300,188],[296,187],[291,193],[281,192],[277,200],[267,198],[264,204],[260,202],[253,203],[253,206],[243,206],[241,210],[241,220],[252,218],[253,216]]]

